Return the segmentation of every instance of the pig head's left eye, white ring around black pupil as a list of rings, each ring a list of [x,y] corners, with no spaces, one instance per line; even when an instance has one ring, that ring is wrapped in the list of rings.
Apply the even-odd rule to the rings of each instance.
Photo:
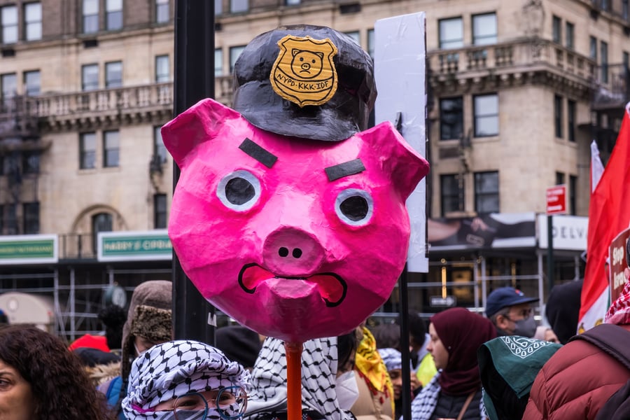
[[[247,171],[235,171],[219,181],[216,195],[228,209],[246,211],[260,197],[260,181]]]

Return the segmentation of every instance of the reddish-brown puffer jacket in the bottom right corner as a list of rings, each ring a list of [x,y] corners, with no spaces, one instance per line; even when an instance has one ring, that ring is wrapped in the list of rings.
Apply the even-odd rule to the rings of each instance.
[[[595,419],[630,371],[583,340],[564,345],[534,380],[523,420]]]

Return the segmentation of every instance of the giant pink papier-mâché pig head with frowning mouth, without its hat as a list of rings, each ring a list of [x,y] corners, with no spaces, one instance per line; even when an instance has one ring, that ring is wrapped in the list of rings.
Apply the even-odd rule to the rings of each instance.
[[[162,128],[181,168],[169,237],[183,270],[262,335],[304,342],[349,332],[402,272],[405,200],[428,163],[391,123],[320,141],[351,128],[312,139],[253,119],[205,99]]]

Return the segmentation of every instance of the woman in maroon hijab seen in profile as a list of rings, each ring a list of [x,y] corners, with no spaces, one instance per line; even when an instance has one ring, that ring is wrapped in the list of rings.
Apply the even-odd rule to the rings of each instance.
[[[430,318],[429,335],[437,374],[412,401],[412,420],[484,419],[477,349],[496,337],[493,323],[451,308]]]

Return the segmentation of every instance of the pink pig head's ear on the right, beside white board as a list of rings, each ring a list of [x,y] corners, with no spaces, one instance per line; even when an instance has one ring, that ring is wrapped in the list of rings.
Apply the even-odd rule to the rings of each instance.
[[[407,200],[418,183],[428,174],[429,164],[426,159],[409,146],[389,121],[380,123],[360,135],[374,148],[373,153],[378,153],[384,171],[391,174],[394,188]]]

